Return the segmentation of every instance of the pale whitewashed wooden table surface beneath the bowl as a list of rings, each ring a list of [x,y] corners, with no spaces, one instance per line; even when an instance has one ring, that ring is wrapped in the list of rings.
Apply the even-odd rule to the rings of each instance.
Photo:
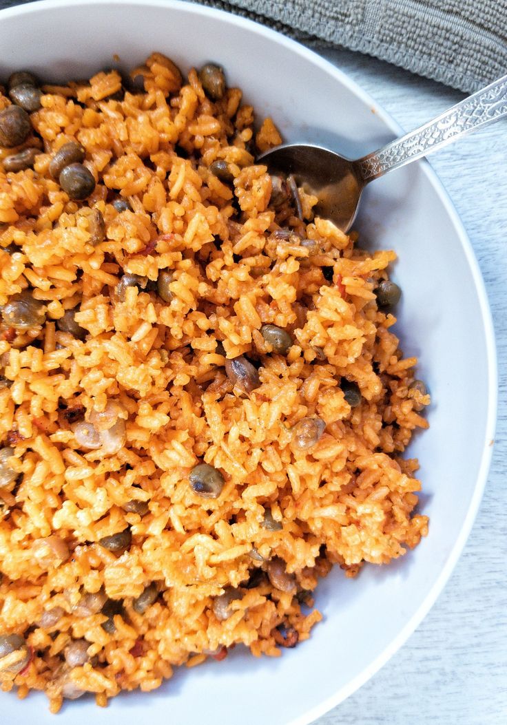
[[[405,130],[464,97],[360,54],[322,55]],[[490,476],[463,555],[429,615],[376,676],[315,725],[507,724],[507,120],[429,161],[469,233],[492,308],[500,390]]]

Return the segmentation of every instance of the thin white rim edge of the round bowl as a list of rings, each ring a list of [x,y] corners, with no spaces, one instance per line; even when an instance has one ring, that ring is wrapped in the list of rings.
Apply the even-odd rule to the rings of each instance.
[[[193,14],[200,15],[201,17],[218,17],[222,22],[226,22],[228,25],[236,25],[237,27],[246,28],[261,36],[264,36],[268,41],[272,41],[277,44],[285,46],[290,51],[296,53],[302,59],[307,60],[310,64],[318,66],[321,70],[331,75],[338,83],[341,83],[355,96],[357,96],[363,103],[368,104],[382,123],[387,129],[392,131],[395,136],[401,136],[404,133],[403,128],[395,121],[395,119],[387,113],[384,108],[379,105],[361,86],[355,82],[337,65],[331,63],[331,61],[321,57],[316,51],[313,51],[306,46],[302,45],[288,36],[284,36],[277,30],[273,30],[266,25],[262,25],[259,22],[250,20],[249,18],[243,17],[242,15],[236,15],[225,10],[207,7],[200,4],[195,4],[191,1],[185,0],[37,0],[36,2],[30,2],[28,4],[17,5],[9,8],[0,8],[0,22],[7,19],[8,17],[15,17],[17,15],[29,15],[37,14],[39,12],[45,12],[48,9],[57,9],[59,7],[78,7],[78,6],[94,6],[99,5],[104,7],[106,4],[118,7],[125,6],[149,6],[159,8],[160,10],[176,9],[179,11],[185,11]],[[485,281],[482,277],[482,273],[479,268],[477,257],[474,253],[474,249],[471,245],[468,234],[458,216],[456,207],[448,196],[448,192],[445,190],[440,178],[437,173],[429,165],[429,162],[423,158],[415,162],[419,164],[421,170],[426,175],[429,183],[434,188],[440,202],[442,203],[445,212],[447,212],[450,222],[456,229],[458,239],[461,243],[465,259],[469,265],[471,276],[474,280],[474,286],[477,290],[477,297],[479,302],[479,310],[482,318],[482,324],[485,331],[485,347],[486,347],[486,360],[487,360],[487,416],[484,431],[484,442],[482,446],[482,455],[479,463],[479,470],[477,473],[477,480],[472,494],[469,508],[466,512],[463,525],[461,526],[460,534],[454,542],[453,548],[448,556],[442,571],[437,577],[434,585],[426,593],[426,596],[422,600],[419,608],[411,616],[408,622],[398,632],[397,636],[384,648],[382,653],[371,661],[371,663],[363,668],[357,676],[355,676],[346,685],[340,687],[337,692],[331,697],[327,697],[318,705],[313,706],[302,713],[297,718],[293,718],[292,721],[287,725],[309,725],[316,718],[329,712],[332,708],[342,703],[347,697],[353,694],[355,690],[365,684],[368,679],[371,679],[380,668],[394,655],[397,650],[402,647],[411,636],[413,631],[421,624],[421,621],[427,615],[429,610],[434,605],[434,602],[439,597],[442,589],[445,587],[448,579],[450,579],[451,573],[458,563],[458,559],[461,556],[461,552],[466,544],[471,528],[474,524],[479,505],[482,500],[482,495],[485,490],[488,473],[490,471],[490,463],[492,459],[493,444],[495,439],[495,427],[497,419],[497,407],[498,407],[498,365],[497,365],[497,351],[495,342],[495,330],[492,323],[492,315],[490,309],[489,299],[487,297],[487,291],[485,287]]]

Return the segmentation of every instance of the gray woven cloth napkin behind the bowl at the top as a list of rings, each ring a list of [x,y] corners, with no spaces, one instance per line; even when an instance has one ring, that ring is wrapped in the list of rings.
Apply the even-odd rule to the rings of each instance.
[[[507,0],[195,0],[303,43],[345,46],[461,91],[507,73]],[[0,7],[22,0],[0,0]]]

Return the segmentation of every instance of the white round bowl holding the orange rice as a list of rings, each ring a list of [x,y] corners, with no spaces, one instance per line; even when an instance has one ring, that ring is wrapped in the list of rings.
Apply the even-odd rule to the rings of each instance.
[[[162,51],[183,69],[213,60],[244,88],[259,115],[272,115],[287,141],[329,145],[358,157],[400,128],[334,66],[248,20],[167,0],[81,0],[0,12],[0,77],[29,68],[41,78],[83,78],[102,67],[131,67]],[[421,460],[421,510],[429,537],[355,581],[339,569],[319,584],[324,615],[312,637],[279,659],[236,648],[222,663],[181,668],[150,694],[120,695],[107,710],[93,698],[67,703],[58,723],[303,725],[371,677],[432,606],[477,512],[494,435],[495,344],[485,288],[466,234],[426,162],[367,190],[358,228],[363,244],[394,248],[403,288],[397,333],[419,357],[432,392],[431,428],[410,455]],[[45,696],[20,703],[1,695],[2,721],[57,722]]]

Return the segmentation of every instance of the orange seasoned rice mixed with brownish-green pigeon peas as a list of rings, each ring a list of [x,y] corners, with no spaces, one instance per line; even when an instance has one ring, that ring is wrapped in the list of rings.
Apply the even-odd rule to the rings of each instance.
[[[2,689],[57,712],[279,655],[332,564],[426,535],[395,254],[255,163],[280,142],[160,53],[0,87]]]

